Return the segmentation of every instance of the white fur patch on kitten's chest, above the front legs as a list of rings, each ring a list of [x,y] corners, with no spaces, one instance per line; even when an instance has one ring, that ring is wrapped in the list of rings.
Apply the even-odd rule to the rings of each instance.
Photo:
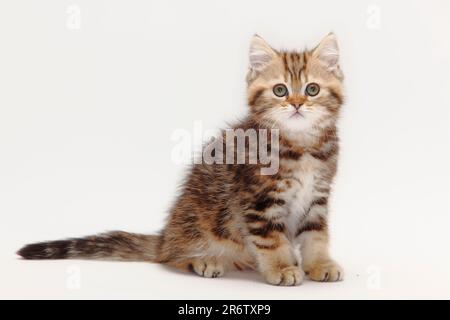
[[[292,234],[308,213],[323,168],[320,161],[309,154],[298,161],[282,165],[286,166],[288,172],[283,177],[282,184],[285,186],[283,199],[286,203],[286,225]]]

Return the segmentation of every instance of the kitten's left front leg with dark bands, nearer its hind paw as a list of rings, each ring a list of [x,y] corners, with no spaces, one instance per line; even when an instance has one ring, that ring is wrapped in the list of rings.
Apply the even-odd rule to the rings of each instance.
[[[247,214],[245,220],[246,242],[265,280],[274,285],[299,285],[304,273],[284,234],[284,224],[277,218],[255,213]]]

